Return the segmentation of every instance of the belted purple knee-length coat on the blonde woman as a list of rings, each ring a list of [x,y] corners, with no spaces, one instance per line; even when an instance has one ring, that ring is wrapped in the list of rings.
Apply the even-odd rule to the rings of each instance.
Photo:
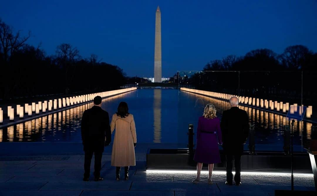
[[[222,143],[220,119],[198,118],[197,148],[194,160],[199,163],[220,163],[218,142]]]

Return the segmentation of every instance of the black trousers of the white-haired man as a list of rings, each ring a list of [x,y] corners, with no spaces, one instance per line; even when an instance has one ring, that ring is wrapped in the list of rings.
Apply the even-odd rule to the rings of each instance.
[[[233,160],[235,160],[235,182],[240,183],[241,182],[241,155],[226,155],[226,171],[227,171],[227,182],[229,184],[232,184],[232,166],[233,166]]]

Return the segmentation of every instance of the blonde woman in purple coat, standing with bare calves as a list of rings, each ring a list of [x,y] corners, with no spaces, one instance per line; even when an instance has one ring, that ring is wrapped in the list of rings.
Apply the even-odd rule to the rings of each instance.
[[[193,183],[200,181],[201,168],[203,163],[207,163],[209,169],[208,184],[212,184],[211,175],[214,163],[221,162],[218,144],[222,144],[222,136],[220,119],[217,118],[216,111],[213,104],[207,104],[203,116],[198,118],[197,148],[194,156],[194,160],[197,162],[197,178],[192,181]]]

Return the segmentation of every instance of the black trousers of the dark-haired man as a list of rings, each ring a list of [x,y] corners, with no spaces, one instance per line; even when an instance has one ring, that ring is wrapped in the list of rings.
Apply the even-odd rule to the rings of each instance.
[[[94,176],[95,178],[100,177],[102,152],[85,151],[84,178],[89,178],[90,164],[91,164],[91,159],[93,158],[93,154],[95,154]]]

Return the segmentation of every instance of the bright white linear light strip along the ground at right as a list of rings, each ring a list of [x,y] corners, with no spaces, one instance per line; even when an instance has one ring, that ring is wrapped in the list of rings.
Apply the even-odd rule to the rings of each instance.
[[[196,174],[196,170],[152,170],[147,169],[148,173],[162,173],[162,174]],[[213,171],[213,174],[226,174],[225,171]],[[208,174],[208,171],[201,171],[201,174]],[[235,174],[233,171],[232,174]],[[291,175],[291,173],[282,173],[282,172],[241,172],[241,174],[247,175]],[[294,173],[297,176],[314,176],[313,174],[304,174],[304,173]]]

